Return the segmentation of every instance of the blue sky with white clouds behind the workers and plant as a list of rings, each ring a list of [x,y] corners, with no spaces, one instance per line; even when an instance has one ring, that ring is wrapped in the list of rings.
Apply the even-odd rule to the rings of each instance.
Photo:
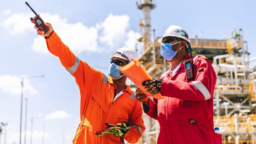
[[[137,9],[135,0],[27,2],[89,65],[107,68],[108,56],[124,45],[134,48],[141,34],[138,21],[142,11]],[[256,56],[255,3],[252,0],[158,0],[151,11],[151,26],[156,29],[156,36],[174,24],[186,29],[190,38],[198,35],[207,39],[221,39],[233,29],[242,28],[252,58]],[[30,143],[31,118],[44,115],[34,119],[33,143],[42,142],[43,123],[45,143],[62,143],[63,129],[65,143],[71,143],[80,121],[79,89],[59,59],[47,51],[44,38],[33,29],[29,20],[33,16],[25,1],[1,1],[0,122],[8,123],[6,143],[19,142],[21,78],[40,74],[45,77],[24,80],[23,94],[28,98],[26,142]],[[23,110],[22,131],[25,107]]]

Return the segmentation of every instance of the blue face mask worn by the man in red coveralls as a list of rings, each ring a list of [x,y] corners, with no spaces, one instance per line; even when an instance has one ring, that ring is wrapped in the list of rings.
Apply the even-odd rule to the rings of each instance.
[[[179,41],[179,42],[181,42],[181,41]],[[174,44],[178,44],[179,42],[176,42]],[[177,54],[177,51],[179,51],[181,49],[180,48],[177,51],[172,50],[172,45],[174,45],[174,44],[161,43],[160,54],[161,54],[161,56],[164,57],[164,59],[166,59],[168,61],[172,60],[173,57]]]

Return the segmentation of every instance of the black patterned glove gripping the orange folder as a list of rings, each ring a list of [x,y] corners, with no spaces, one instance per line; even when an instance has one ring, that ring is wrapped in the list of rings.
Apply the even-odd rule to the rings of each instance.
[[[146,86],[144,88],[145,91],[148,91],[152,95],[155,95],[160,92],[162,81],[163,79],[152,79],[142,82],[142,85]]]

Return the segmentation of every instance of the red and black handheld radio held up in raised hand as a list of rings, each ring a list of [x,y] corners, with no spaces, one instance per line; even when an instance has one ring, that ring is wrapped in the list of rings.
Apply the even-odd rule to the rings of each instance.
[[[32,23],[34,23],[36,25],[36,27],[42,31],[44,31],[44,33],[47,33],[49,31],[49,27],[44,25],[44,21],[41,19],[41,17],[39,16],[39,14],[36,14],[36,12],[29,6],[29,4],[27,2],[25,2],[28,7],[33,11],[33,13],[36,15],[33,18],[31,17],[30,20]]]

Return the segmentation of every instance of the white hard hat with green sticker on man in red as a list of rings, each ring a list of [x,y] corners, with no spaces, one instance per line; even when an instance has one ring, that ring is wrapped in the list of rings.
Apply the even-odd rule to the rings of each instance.
[[[180,26],[171,25],[170,27],[168,27],[168,29],[164,32],[163,36],[158,39],[158,42],[161,43],[163,38],[167,36],[184,39],[186,42],[188,42],[188,44],[190,44],[188,33]]]

